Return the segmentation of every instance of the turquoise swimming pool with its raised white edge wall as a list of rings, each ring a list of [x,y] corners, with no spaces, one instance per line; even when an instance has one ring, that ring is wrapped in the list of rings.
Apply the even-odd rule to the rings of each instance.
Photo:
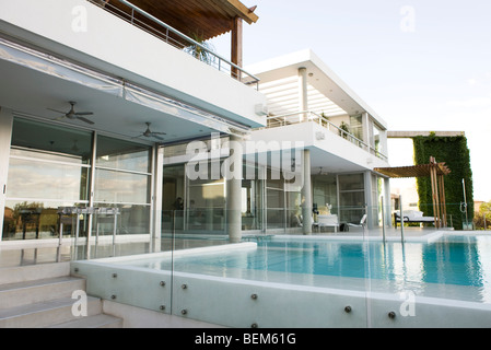
[[[272,236],[73,268],[91,295],[227,327],[491,326],[488,235]]]

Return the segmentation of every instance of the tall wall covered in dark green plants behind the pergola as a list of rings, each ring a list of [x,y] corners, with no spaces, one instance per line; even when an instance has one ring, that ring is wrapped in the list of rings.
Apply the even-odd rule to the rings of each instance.
[[[465,137],[436,137],[430,135],[428,137],[412,138],[414,145],[414,164],[429,164],[430,156],[434,156],[436,162],[445,162],[451,170],[451,174],[444,176],[445,180],[445,201],[448,217],[448,225],[455,230],[463,230],[463,222],[466,221],[466,214],[463,213],[464,206],[464,188],[463,179],[465,179],[466,199],[467,199],[467,218],[468,223],[474,218],[474,194],[472,194],[472,171],[470,168],[470,154],[467,148],[467,139]],[[418,195],[419,207],[424,215],[433,215],[433,201],[431,192],[431,178],[418,177]]]

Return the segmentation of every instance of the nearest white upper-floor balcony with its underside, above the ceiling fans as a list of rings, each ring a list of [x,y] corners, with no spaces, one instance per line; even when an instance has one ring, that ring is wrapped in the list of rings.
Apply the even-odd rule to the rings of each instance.
[[[174,21],[207,39],[257,20],[235,0],[0,0],[0,106],[52,119],[47,108],[63,110],[75,101],[97,115],[93,128],[131,138],[151,121],[167,133],[165,142],[265,126],[256,106],[266,98],[239,60],[207,50],[151,14],[204,3],[227,19],[218,32],[204,31],[213,18],[203,20],[198,8],[196,16]],[[238,39],[241,31],[233,31]]]

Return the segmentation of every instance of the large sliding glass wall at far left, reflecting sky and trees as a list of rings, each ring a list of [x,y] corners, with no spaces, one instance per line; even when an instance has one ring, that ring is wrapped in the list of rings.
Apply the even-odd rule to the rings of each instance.
[[[91,131],[14,119],[2,240],[58,237],[59,207],[118,207],[118,234],[150,233],[151,148],[98,136],[94,149],[93,138]],[[73,236],[73,228],[68,220],[63,235]],[[80,228],[86,235],[86,215]]]

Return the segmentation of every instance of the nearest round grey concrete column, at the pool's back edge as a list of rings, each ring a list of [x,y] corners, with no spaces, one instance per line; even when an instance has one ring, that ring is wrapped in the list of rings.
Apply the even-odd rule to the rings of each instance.
[[[226,179],[226,228],[231,243],[242,240],[242,168],[243,148],[241,139],[230,136],[231,154],[224,162]]]

